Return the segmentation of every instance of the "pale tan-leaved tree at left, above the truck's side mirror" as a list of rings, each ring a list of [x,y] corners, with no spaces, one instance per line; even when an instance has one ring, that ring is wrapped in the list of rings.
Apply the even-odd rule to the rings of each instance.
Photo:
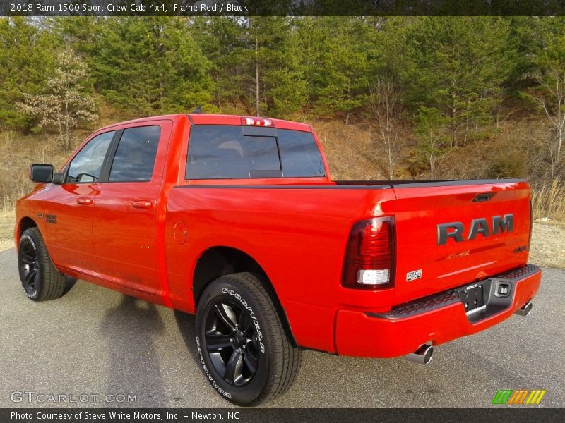
[[[97,119],[95,101],[83,87],[87,76],[80,57],[70,49],[61,51],[55,73],[47,80],[47,94],[25,94],[24,102],[18,104],[24,113],[40,116],[40,126],[56,126],[60,145],[66,151],[71,148],[78,125]]]

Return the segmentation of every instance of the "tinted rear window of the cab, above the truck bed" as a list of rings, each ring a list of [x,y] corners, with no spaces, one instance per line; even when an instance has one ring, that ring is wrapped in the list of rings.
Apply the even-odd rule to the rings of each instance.
[[[272,128],[264,133],[261,130],[245,133],[244,128],[194,125],[190,133],[186,179],[326,176],[311,133]]]

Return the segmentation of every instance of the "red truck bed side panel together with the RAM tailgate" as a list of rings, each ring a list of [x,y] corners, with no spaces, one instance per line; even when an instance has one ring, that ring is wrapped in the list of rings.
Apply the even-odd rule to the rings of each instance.
[[[186,247],[167,241],[172,295],[182,295],[198,257],[214,245],[242,250],[269,275],[287,315],[311,317],[297,341],[333,350],[313,339],[332,326],[335,310],[364,307],[386,312],[395,305],[523,266],[528,259],[529,186],[523,180],[339,181],[330,184],[182,185],[171,190],[167,227],[182,219]],[[486,201],[477,195],[494,193]],[[438,245],[438,224],[513,214],[513,231]],[[396,279],[392,288],[368,292],[341,285],[352,225],[371,216],[396,219]],[[167,233],[170,233],[167,228]],[[465,234],[466,235],[466,234]],[[188,247],[189,245],[189,247]],[[518,247],[525,250],[514,253]],[[188,262],[179,269],[179,262]],[[420,271],[417,280],[407,274]],[[336,301],[336,299],[338,299]],[[297,310],[296,313],[293,312]],[[299,310],[299,311],[298,311]]]

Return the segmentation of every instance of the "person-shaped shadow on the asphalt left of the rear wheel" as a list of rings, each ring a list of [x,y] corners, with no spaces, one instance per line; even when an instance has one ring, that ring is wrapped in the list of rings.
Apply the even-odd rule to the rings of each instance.
[[[108,343],[106,395],[114,398],[102,406],[159,405],[165,389],[155,339],[164,331],[164,324],[157,306],[123,295],[119,304],[105,315],[100,330]],[[115,398],[127,398],[128,394],[136,395],[136,402]]]

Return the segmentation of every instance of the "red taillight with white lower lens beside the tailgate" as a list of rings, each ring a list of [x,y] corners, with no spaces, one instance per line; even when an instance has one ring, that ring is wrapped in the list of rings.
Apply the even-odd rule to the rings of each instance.
[[[343,286],[374,290],[393,285],[394,228],[393,216],[375,217],[353,225],[343,262]]]

